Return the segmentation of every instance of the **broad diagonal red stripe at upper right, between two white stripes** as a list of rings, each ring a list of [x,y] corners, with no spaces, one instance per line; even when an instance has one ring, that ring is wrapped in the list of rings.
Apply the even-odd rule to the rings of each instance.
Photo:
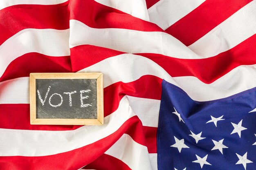
[[[193,44],[252,0],[207,0],[166,32],[186,46]]]

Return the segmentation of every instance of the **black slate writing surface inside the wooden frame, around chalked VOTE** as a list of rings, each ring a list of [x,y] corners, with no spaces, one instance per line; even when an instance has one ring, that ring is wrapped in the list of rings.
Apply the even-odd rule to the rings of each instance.
[[[36,118],[97,119],[97,79],[36,79]]]

